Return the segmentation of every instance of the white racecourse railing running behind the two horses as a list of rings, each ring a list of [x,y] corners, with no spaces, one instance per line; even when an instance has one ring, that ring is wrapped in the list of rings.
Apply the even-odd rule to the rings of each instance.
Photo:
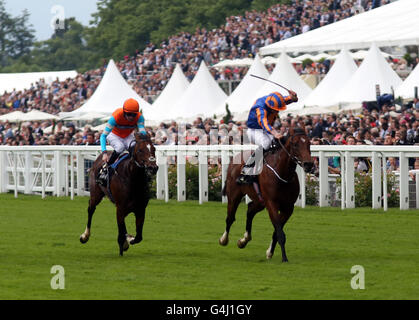
[[[173,145],[156,146],[157,198],[169,200],[168,167],[177,166],[177,200],[186,200],[186,159],[195,157],[199,166],[199,203],[208,201],[208,163],[222,166],[222,187],[232,156],[253,145]],[[372,207],[387,210],[387,170],[389,157],[399,159],[400,209],[409,208],[408,158],[419,157],[419,146],[311,146],[319,158],[319,205],[330,205],[328,158],[341,158],[341,207],[355,207],[354,159],[368,157],[372,162]],[[88,195],[87,172],[100,153],[98,146],[0,146],[0,192],[52,194],[55,196]],[[419,208],[419,172],[416,175],[416,207]],[[297,205],[306,204],[305,173],[297,167],[300,196]],[[223,202],[226,198],[223,197]]]

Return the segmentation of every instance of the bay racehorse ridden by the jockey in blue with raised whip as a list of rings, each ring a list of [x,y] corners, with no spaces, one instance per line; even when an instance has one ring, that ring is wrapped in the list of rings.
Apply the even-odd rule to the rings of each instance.
[[[284,226],[294,211],[294,204],[300,193],[295,169],[299,164],[306,172],[309,172],[313,167],[313,159],[310,155],[310,139],[305,133],[305,128],[291,127],[287,137],[281,140],[275,139],[276,146],[264,154],[263,169],[258,177],[260,195],[257,194],[253,185],[236,183],[244,163],[238,164],[236,161],[230,163],[223,190],[223,194],[228,198],[226,230],[219,243],[223,246],[228,244],[228,233],[235,221],[237,207],[243,196],[247,194],[252,201],[247,207],[246,232],[244,237],[237,242],[238,247],[244,248],[252,239],[253,218],[256,213],[266,207],[274,226],[272,242],[266,252],[266,257],[272,258],[276,242],[278,242],[282,251],[282,261],[286,262],[288,259],[285,253]]]

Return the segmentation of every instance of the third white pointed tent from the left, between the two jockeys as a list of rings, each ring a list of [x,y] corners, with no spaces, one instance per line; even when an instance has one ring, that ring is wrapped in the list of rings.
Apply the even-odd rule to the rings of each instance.
[[[213,116],[215,110],[219,109],[226,99],[227,95],[202,61],[188,89],[176,101],[170,112],[162,116],[162,120],[190,118],[198,115]]]

